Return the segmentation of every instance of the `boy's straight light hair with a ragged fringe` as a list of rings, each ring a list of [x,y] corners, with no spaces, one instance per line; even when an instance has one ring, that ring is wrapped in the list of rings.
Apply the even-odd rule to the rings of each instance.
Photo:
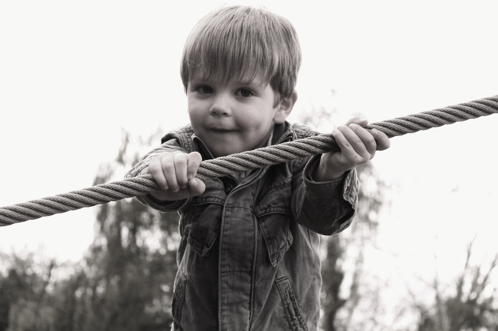
[[[290,96],[301,65],[301,48],[292,24],[264,7],[230,6],[204,16],[183,48],[180,67],[185,92],[196,70],[230,80],[252,70],[275,93],[275,103]]]

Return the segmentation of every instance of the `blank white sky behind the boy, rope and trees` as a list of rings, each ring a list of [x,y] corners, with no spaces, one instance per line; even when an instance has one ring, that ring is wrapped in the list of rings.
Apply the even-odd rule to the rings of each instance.
[[[90,186],[122,128],[146,137],[187,123],[183,43],[224,3],[1,1],[0,205]],[[268,6],[298,32],[295,111],[337,107],[340,125],[356,113],[381,121],[498,94],[497,1],[243,4]],[[451,280],[476,234],[476,262],[498,251],[497,126],[492,115],[396,137],[377,154],[391,205],[373,269],[400,281],[430,280],[437,267]],[[0,250],[78,260],[93,224],[87,208],[0,228]]]

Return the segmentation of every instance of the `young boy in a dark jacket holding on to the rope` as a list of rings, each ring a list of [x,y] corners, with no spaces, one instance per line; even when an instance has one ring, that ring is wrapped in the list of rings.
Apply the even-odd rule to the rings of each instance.
[[[138,197],[180,213],[172,330],[316,330],[319,235],[355,215],[354,167],[389,146],[355,117],[334,130],[341,152],[201,181],[202,160],[314,136],[285,121],[301,50],[264,8],[222,7],[190,33],[181,63],[190,124],[169,132],[127,176],[162,190]]]

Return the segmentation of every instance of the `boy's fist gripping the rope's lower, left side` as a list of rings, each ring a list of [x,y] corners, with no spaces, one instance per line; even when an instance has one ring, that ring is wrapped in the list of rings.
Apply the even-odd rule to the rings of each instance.
[[[162,190],[149,194],[162,201],[181,200],[202,194],[206,185],[199,178],[194,178],[201,161],[202,157],[198,152],[164,153],[153,158],[145,173],[151,173]]]

